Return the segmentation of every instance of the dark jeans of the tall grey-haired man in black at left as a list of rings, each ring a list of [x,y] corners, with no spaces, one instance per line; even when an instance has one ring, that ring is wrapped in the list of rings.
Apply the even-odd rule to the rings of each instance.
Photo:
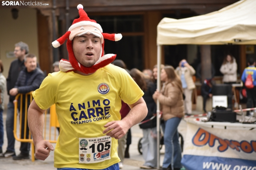
[[[14,144],[15,138],[13,135],[13,122],[14,122],[14,104],[12,101],[9,101],[7,105],[7,114],[6,114],[6,134],[8,139],[7,150],[15,152]]]

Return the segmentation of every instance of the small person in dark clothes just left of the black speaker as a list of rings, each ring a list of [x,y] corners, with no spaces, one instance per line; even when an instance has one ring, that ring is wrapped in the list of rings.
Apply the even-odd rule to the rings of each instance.
[[[206,112],[205,105],[206,105],[206,100],[208,97],[212,97],[212,79],[205,79],[204,83],[202,84],[201,87],[201,95],[203,96],[203,107],[204,107],[204,112]]]

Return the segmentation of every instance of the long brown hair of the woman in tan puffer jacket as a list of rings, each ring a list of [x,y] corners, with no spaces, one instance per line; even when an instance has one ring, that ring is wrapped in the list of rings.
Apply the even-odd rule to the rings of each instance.
[[[177,86],[180,91],[182,92],[182,84],[180,77],[176,74],[175,69],[173,66],[165,66],[163,67],[165,70],[167,77],[168,77],[168,82],[170,82],[173,86]]]

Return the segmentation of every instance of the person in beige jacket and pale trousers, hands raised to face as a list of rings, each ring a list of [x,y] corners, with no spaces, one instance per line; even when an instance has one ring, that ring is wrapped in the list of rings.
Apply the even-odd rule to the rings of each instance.
[[[176,73],[180,76],[182,83],[183,93],[185,95],[184,107],[185,113],[192,113],[192,92],[195,89],[193,75],[195,74],[194,68],[188,64],[186,60],[181,60],[179,67],[176,68]]]

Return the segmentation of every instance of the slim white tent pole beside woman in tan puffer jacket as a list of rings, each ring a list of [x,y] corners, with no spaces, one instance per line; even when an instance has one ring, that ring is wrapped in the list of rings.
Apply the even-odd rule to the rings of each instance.
[[[161,90],[161,80],[160,80],[160,66],[161,66],[161,49],[162,45],[157,45],[157,90]],[[160,169],[160,103],[157,99],[157,119],[156,119],[156,131],[157,131],[157,169]]]

